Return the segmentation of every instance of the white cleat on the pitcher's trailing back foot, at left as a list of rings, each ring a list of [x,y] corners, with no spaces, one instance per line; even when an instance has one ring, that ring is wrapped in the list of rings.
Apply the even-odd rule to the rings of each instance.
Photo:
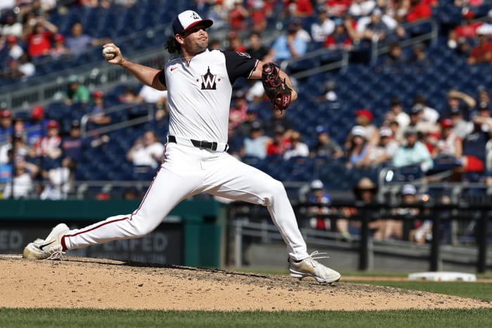
[[[46,239],[37,239],[27,244],[22,252],[22,257],[36,260],[42,260],[44,258],[50,260],[57,258],[63,259],[65,252],[63,251],[61,239],[68,230],[70,229],[65,223],[56,225]]]

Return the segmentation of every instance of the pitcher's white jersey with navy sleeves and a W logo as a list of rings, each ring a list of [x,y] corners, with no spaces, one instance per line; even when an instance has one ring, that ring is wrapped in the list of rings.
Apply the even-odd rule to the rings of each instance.
[[[169,134],[227,143],[232,86],[257,65],[247,53],[219,50],[169,60],[159,76],[169,95]]]

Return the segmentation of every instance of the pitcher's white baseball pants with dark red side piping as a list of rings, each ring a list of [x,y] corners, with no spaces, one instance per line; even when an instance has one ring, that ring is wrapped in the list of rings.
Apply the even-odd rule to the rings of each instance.
[[[63,237],[65,249],[78,249],[112,240],[138,238],[157,228],[183,199],[207,192],[267,207],[282,235],[289,256],[308,257],[287,192],[280,181],[226,152],[167,143],[164,162],[143,200],[132,214],[111,216]]]

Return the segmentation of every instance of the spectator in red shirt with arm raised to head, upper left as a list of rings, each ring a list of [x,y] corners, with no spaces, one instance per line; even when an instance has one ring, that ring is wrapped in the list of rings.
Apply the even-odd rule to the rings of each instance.
[[[51,38],[58,32],[58,27],[42,17],[37,18],[32,31],[27,33],[27,53],[32,58],[48,55],[51,49]]]

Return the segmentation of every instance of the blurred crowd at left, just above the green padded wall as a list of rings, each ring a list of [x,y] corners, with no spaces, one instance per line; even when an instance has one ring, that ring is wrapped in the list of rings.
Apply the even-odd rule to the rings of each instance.
[[[26,118],[13,117],[6,109],[0,110],[0,117],[4,198],[66,199],[74,192],[75,171],[84,152],[108,142],[108,136],[82,138],[79,120],[65,133],[58,121],[46,119],[40,105]]]

